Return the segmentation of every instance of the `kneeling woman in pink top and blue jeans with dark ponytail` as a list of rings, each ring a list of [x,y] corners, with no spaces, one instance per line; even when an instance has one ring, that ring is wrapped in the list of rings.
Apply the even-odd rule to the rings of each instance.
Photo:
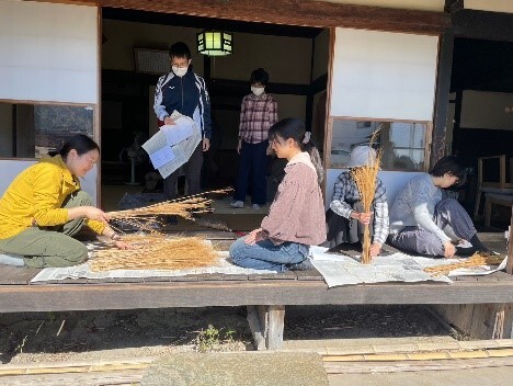
[[[277,157],[288,160],[285,177],[261,227],[233,242],[230,258],[237,265],[258,270],[310,269],[309,246],[326,240],[319,152],[297,118],[274,124],[269,140]]]

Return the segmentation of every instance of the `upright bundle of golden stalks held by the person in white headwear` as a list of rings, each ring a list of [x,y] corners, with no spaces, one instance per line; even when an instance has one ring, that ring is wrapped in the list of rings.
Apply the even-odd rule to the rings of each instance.
[[[377,173],[381,159],[381,151],[376,152],[376,159],[371,159],[369,163],[363,167],[352,168],[351,177],[353,178],[360,192],[363,211],[371,212],[374,196],[376,194]],[[364,227],[362,263],[369,264],[371,258],[371,232],[368,225]]]

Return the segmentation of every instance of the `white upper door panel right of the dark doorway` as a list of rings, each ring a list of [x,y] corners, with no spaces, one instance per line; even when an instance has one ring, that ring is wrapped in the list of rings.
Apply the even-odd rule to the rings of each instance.
[[[331,115],[432,121],[437,36],[337,29]]]

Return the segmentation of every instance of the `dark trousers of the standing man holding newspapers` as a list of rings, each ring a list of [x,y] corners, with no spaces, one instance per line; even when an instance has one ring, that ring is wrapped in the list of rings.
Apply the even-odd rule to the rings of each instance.
[[[166,200],[176,198],[176,183],[182,170],[185,173],[185,181],[187,181],[187,195],[201,193],[202,167],[203,140],[200,141],[200,145],[197,145],[189,161],[163,180],[163,194]]]

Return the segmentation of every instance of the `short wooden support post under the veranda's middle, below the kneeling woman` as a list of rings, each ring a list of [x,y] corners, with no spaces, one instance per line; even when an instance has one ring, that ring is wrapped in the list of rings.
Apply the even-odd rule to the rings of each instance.
[[[256,350],[283,348],[284,306],[248,306],[248,322]]]

